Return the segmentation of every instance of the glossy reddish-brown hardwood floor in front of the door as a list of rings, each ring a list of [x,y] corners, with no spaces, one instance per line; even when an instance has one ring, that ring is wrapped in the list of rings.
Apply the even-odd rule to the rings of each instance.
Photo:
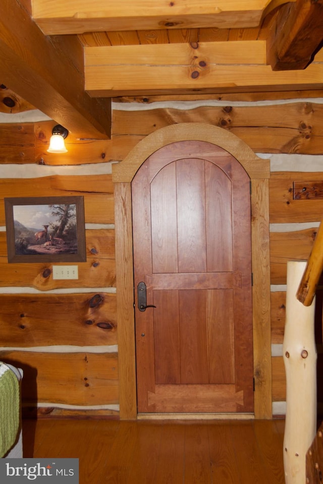
[[[284,423],[24,420],[24,457],[79,458],[80,484],[284,484]]]

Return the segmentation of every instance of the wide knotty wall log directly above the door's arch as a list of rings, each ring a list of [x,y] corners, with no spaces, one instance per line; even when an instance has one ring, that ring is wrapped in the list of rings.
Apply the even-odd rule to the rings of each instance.
[[[142,97],[137,96],[138,101]],[[218,97],[222,99],[221,94]],[[144,99],[150,102],[150,96]],[[156,100],[163,99],[160,97]],[[113,145],[116,159],[125,158],[129,152],[127,147],[133,148],[136,141],[143,138],[143,133],[148,135],[173,123],[187,122],[208,123],[230,130],[256,153],[322,153],[319,127],[323,118],[320,104],[306,101],[242,107],[232,106],[230,101],[228,99],[227,106],[200,106],[188,110],[166,107],[149,111],[114,111]],[[127,137],[125,130],[129,132]]]

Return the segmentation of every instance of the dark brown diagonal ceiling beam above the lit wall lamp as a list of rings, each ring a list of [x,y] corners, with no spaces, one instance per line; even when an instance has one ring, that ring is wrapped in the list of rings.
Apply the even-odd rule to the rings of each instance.
[[[92,99],[84,91],[77,36],[45,37],[19,0],[0,2],[0,76],[2,84],[74,135],[110,137],[111,99]]]

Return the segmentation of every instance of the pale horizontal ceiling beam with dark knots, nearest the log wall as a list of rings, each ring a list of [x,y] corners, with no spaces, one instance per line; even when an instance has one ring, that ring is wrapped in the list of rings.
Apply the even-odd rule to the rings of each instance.
[[[323,63],[273,72],[266,42],[127,45],[85,48],[85,89],[91,96],[188,94],[323,88]]]

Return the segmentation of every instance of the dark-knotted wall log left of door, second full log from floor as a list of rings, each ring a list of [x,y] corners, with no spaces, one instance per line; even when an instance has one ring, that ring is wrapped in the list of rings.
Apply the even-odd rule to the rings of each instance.
[[[1,346],[117,344],[116,294],[1,294]]]

